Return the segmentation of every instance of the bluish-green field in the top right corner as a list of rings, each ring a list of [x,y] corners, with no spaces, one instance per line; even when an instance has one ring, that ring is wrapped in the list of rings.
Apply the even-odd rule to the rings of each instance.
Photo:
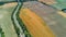
[[[66,0],[56,0],[57,3],[52,4],[52,7],[62,10],[62,9],[66,9]]]

